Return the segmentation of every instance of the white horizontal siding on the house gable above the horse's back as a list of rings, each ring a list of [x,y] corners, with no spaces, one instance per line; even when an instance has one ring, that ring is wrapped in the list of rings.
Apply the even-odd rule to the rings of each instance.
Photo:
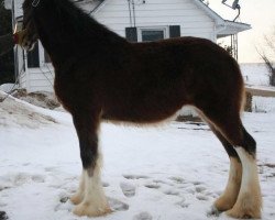
[[[138,28],[180,25],[183,36],[215,41],[215,21],[191,1],[146,0],[146,3],[135,6],[135,24]],[[125,36],[125,28],[130,26],[128,0],[107,0],[95,18],[110,30]]]

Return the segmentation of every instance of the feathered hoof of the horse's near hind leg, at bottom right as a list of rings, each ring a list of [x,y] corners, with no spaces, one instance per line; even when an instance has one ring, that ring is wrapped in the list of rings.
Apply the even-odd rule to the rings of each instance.
[[[230,209],[226,212],[229,217],[235,219],[261,219],[261,210],[257,209]]]

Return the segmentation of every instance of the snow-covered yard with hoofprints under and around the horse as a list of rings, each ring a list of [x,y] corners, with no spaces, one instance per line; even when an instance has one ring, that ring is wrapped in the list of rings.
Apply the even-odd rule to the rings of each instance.
[[[2,95],[2,94],[1,94]],[[244,113],[257,141],[263,219],[275,219],[275,113]],[[230,219],[207,216],[226,187],[228,156],[205,124],[156,128],[103,123],[102,220]],[[67,200],[81,172],[70,116],[15,99],[0,103],[0,211],[10,220],[78,220]]]

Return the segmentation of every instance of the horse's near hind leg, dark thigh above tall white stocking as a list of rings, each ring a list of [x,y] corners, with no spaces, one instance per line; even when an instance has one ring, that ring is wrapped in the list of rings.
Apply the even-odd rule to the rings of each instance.
[[[242,180],[238,199],[227,213],[234,218],[261,218],[262,197],[255,160],[255,141],[243,128],[239,112],[228,111],[228,109],[216,111],[215,107],[202,112],[234,146],[242,163]]]

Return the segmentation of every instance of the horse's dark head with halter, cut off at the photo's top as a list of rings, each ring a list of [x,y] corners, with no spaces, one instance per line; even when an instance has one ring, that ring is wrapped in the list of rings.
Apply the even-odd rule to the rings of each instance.
[[[21,46],[26,51],[32,51],[34,44],[38,38],[35,21],[34,21],[34,13],[35,9],[40,7],[40,3],[43,0],[25,0],[23,3],[23,32],[21,36]]]

